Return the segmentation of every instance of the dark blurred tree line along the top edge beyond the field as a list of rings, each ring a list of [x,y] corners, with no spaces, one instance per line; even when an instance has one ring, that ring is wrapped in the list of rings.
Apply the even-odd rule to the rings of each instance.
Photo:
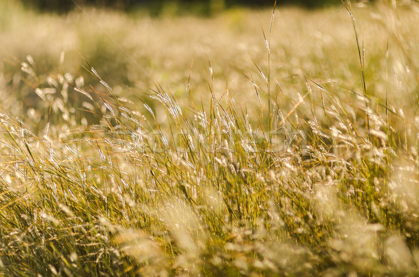
[[[164,3],[175,1],[182,6],[199,5],[207,8],[210,13],[212,8],[229,8],[232,6],[273,6],[274,0],[21,0],[24,5],[31,6],[43,11],[66,12],[79,5],[106,6],[111,8],[129,9],[134,7],[158,9]],[[340,3],[340,0],[277,0],[277,4],[295,4],[315,8],[327,4]]]

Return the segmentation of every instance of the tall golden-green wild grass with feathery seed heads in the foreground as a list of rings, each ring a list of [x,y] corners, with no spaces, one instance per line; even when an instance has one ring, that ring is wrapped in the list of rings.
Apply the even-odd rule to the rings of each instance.
[[[89,63],[91,83],[39,74],[28,56],[36,104],[0,112],[0,275],[419,274],[418,7],[347,8],[354,52],[323,67],[304,52],[275,72],[284,48],[263,29],[251,91],[222,88],[212,61],[205,89],[192,70],[177,96],[155,78],[115,89]]]

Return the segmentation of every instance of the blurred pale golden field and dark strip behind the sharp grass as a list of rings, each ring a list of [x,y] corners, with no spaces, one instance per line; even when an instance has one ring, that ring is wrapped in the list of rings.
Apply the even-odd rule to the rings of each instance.
[[[355,2],[360,3],[352,1]],[[149,91],[158,82],[186,105],[205,95],[212,79],[216,95],[221,97],[228,87],[231,95],[237,95],[237,101],[258,103],[249,78],[258,84],[265,82],[259,72],[267,72],[268,66],[263,30],[269,36],[274,0],[75,3],[0,0],[2,105],[10,112],[33,119],[39,131],[52,119],[66,121],[68,128],[75,128],[72,120],[81,117],[89,124],[98,123],[96,114],[101,112],[91,106],[87,96],[71,89],[84,88],[94,91],[93,95],[107,92],[98,78],[89,73],[91,67],[118,96],[133,103],[138,102],[138,93]],[[344,79],[352,82],[350,86],[359,87],[353,26],[346,10],[339,9],[341,1],[277,3],[270,36],[270,66],[276,70],[273,76],[283,86],[287,82],[291,87],[288,93],[292,96],[307,89],[304,78],[301,81],[298,76],[321,79],[325,72],[330,80]],[[374,5],[378,3],[381,2]],[[375,66],[366,73],[367,77],[382,78],[385,75],[375,72],[385,72],[380,69],[385,68],[381,57],[385,57],[388,36],[377,31],[383,28],[382,23],[370,16],[372,10],[376,13],[374,5],[353,6],[358,17],[367,19],[358,22],[365,27],[365,38],[374,38],[365,40],[366,46],[374,48],[365,63],[371,61]],[[411,30],[405,31],[412,40]],[[398,29],[398,33],[402,31]],[[380,83],[385,82],[376,82]],[[185,97],[186,87],[191,99]],[[147,105],[154,109],[153,103]],[[252,108],[253,105],[249,112]],[[70,114],[61,119],[62,112]],[[162,123],[165,121],[161,118]]]

